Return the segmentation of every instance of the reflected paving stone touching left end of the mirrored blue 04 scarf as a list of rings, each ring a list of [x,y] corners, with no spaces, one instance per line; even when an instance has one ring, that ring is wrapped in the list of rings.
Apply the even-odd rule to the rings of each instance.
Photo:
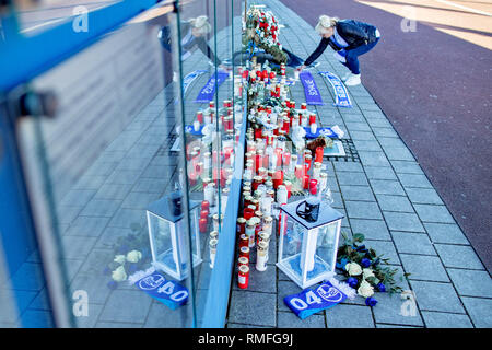
[[[101,322],[144,323],[152,304],[152,298],[141,291],[115,290],[108,298]]]

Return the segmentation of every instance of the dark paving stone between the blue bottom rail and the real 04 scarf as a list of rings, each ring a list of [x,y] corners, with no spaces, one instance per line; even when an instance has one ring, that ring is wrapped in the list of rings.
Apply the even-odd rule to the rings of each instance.
[[[251,303],[253,300],[255,303]],[[233,290],[229,322],[276,327],[276,294]]]

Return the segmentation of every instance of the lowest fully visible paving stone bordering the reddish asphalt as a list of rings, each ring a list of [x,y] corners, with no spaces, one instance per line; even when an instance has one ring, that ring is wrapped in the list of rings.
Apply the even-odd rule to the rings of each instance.
[[[471,246],[436,244],[435,248],[445,267],[483,270],[483,265]]]

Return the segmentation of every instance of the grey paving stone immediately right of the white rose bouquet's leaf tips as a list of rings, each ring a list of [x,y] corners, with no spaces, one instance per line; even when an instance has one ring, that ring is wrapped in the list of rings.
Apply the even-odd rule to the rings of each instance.
[[[400,254],[400,259],[406,271],[411,273],[410,280],[449,281],[446,270],[436,256]]]

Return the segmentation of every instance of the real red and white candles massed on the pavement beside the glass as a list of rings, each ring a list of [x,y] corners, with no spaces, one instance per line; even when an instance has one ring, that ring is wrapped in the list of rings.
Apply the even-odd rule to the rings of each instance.
[[[256,83],[257,80],[249,81],[249,84]],[[250,124],[246,132],[243,214],[237,219],[237,282],[241,289],[248,288],[251,249],[256,248],[256,270],[267,269],[273,218],[278,208],[292,196],[292,182],[297,183],[296,188],[313,195],[327,187],[328,174],[323,172],[324,148],[316,148],[313,159],[312,151],[306,148],[297,150],[296,154],[291,153],[286,142],[286,136],[294,126],[316,124],[316,115],[307,112],[306,104],[302,104],[300,110],[295,109],[295,102],[286,98],[283,98],[282,107],[280,115],[259,103],[249,110],[249,116],[257,117],[261,122]],[[256,118],[248,119],[257,121]],[[274,127],[266,127],[271,125]]]

